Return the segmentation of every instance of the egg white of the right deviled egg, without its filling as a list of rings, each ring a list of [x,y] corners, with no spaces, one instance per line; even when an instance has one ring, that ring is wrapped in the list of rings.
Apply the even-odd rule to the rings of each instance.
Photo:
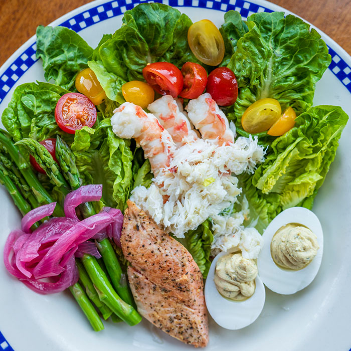
[[[278,267],[271,255],[271,241],[279,228],[288,223],[302,224],[317,237],[319,249],[313,260],[300,270]],[[317,275],[323,255],[323,231],[317,216],[303,207],[292,207],[281,212],[263,233],[263,247],[257,258],[258,273],[270,290],[289,295],[309,285]]]

